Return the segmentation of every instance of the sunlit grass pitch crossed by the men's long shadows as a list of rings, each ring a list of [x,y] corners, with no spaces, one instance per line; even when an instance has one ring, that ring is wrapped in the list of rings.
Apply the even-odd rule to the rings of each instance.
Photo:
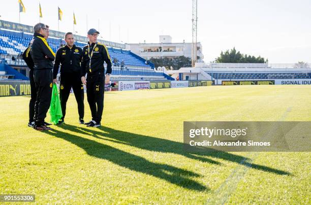
[[[106,92],[101,128],[78,124],[71,95],[66,124],[45,132],[26,126],[28,101],[0,98],[0,194],[71,204],[311,203],[309,152],[182,146],[183,121],[310,121],[311,86]]]

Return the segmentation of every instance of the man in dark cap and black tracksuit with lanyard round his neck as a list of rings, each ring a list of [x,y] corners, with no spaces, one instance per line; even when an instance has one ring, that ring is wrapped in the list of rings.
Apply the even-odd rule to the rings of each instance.
[[[109,83],[111,74],[111,59],[106,46],[97,43],[98,35],[99,32],[96,29],[89,29],[87,32],[89,42],[82,51],[81,81],[86,85],[87,101],[92,115],[92,120],[85,123],[88,127],[101,126],[105,90],[104,62],[107,63],[106,83]]]

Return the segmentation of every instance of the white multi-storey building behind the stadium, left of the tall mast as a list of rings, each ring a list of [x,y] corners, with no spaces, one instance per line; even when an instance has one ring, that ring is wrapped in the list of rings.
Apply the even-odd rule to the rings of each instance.
[[[145,58],[178,57],[185,56],[191,58],[192,43],[172,43],[171,36],[160,36],[159,43],[139,43],[126,44],[126,49]],[[202,45],[197,43],[198,62],[203,61]]]

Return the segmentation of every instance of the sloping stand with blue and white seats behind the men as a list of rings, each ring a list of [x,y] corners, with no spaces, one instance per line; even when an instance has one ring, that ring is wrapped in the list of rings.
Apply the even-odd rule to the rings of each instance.
[[[25,62],[21,59],[21,53],[27,48],[29,42],[32,40],[31,33],[24,33],[18,31],[11,31],[0,29],[0,59],[9,65],[25,66]],[[57,51],[65,41],[49,37],[47,42],[54,52]],[[79,47],[85,46],[86,42],[75,42]],[[112,67],[111,80],[173,80],[169,76],[164,75],[163,72],[154,70],[154,65],[147,62],[144,58],[132,53],[130,50],[107,47],[111,60],[117,59],[118,63],[114,63]],[[125,65],[121,69],[120,63],[124,61]],[[25,69],[21,69],[22,74],[26,74]],[[8,71],[7,71],[8,72]],[[1,79],[12,79],[14,75],[5,76],[0,73]],[[21,79],[19,77],[19,79]]]

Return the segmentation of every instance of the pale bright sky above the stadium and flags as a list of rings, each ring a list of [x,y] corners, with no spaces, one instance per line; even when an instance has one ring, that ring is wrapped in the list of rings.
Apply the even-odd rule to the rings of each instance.
[[[17,0],[3,1],[0,19],[18,22]],[[5,2],[5,3],[4,3]],[[39,21],[39,1],[22,0],[26,13],[21,23]],[[63,11],[60,31],[73,30],[73,11],[79,35],[88,28],[99,29],[104,40],[122,43],[159,42],[170,35],[173,42],[192,41],[191,0],[41,0],[43,18],[57,30],[57,6]],[[261,55],[271,63],[311,62],[310,0],[198,0],[198,41],[204,60],[209,62],[222,50],[235,48],[242,53]],[[111,24],[111,26],[110,26]]]

